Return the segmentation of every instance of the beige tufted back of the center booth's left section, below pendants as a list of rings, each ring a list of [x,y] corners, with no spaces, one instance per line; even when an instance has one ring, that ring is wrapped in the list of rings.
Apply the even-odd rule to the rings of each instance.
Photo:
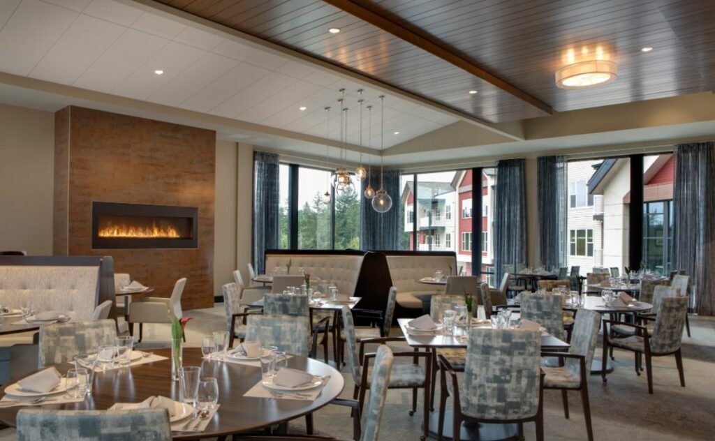
[[[364,255],[341,254],[266,254],[266,271],[285,268],[290,261],[291,274],[302,268],[311,278],[330,281],[342,294],[355,295]]]

